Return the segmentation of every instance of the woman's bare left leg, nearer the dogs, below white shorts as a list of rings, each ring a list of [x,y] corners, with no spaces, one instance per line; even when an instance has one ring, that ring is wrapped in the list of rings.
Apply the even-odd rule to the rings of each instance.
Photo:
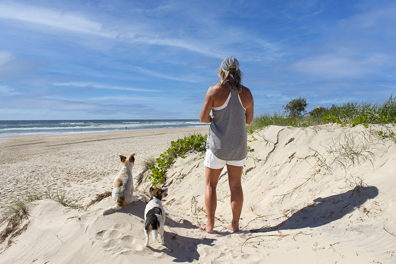
[[[214,213],[217,207],[216,187],[222,170],[223,168],[211,169],[205,166],[205,208],[207,222],[205,225],[201,225],[201,228],[208,233],[213,233]]]

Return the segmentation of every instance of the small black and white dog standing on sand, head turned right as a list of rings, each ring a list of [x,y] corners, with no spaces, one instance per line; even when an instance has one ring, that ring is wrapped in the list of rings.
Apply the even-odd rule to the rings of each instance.
[[[164,242],[164,223],[165,223],[165,210],[162,207],[162,199],[167,196],[166,193],[168,188],[165,190],[160,188],[150,187],[151,199],[148,202],[145,210],[145,234],[146,243],[145,247],[148,247],[149,233],[151,232],[152,239],[157,240],[157,235],[161,240],[161,245],[165,245]]]

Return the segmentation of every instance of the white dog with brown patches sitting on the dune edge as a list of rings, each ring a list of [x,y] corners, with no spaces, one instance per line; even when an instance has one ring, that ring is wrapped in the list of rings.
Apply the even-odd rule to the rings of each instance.
[[[114,188],[112,191],[112,197],[115,202],[115,206],[104,210],[103,214],[108,214],[120,210],[124,205],[140,201],[140,198],[136,198],[133,195],[133,178],[132,168],[135,164],[135,153],[131,157],[126,158],[120,155],[122,168],[114,179]]]

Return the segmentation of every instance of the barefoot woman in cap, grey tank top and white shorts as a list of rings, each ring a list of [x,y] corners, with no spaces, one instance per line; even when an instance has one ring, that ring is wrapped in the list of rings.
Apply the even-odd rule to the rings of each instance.
[[[226,57],[218,70],[220,82],[207,90],[199,115],[201,122],[211,123],[204,161],[207,222],[201,225],[208,233],[213,233],[216,187],[224,166],[227,166],[231,191],[232,221],[228,228],[233,232],[239,231],[244,203],[241,177],[247,156],[246,124],[253,121],[253,97],[250,90],[241,84],[242,72],[238,60]]]

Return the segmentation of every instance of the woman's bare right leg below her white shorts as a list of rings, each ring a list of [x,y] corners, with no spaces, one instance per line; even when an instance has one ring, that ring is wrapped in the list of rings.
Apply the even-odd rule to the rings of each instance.
[[[233,232],[239,231],[239,218],[241,217],[242,206],[244,204],[244,192],[241,185],[242,169],[243,167],[227,164],[232,210],[232,222],[228,228]]]

